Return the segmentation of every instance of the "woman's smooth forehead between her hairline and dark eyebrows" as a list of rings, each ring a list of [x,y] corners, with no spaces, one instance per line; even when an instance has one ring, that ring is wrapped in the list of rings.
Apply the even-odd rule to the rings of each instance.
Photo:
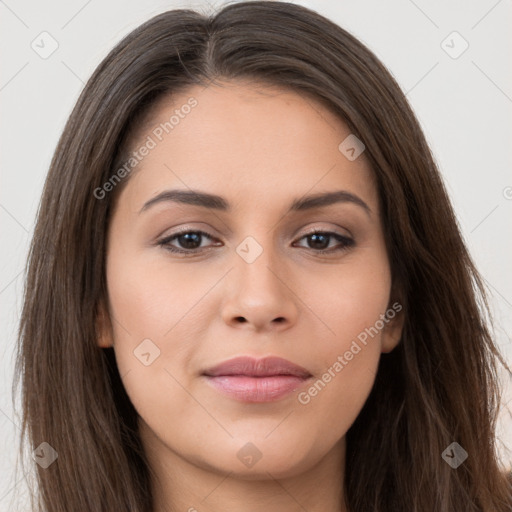
[[[166,188],[195,189],[240,207],[271,208],[343,188],[375,206],[365,154],[350,161],[339,149],[349,135],[309,95],[262,84],[193,86],[149,112],[132,151],[151,149],[122,196],[136,209]]]

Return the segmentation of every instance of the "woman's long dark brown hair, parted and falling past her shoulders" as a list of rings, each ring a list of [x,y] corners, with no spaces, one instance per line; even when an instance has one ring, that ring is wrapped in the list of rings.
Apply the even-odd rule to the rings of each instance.
[[[95,329],[107,298],[109,215],[130,177],[102,198],[95,191],[115,174],[130,134],[159,98],[219,78],[314,97],[364,142],[376,177],[405,325],[347,433],[340,486],[349,510],[510,510],[511,483],[495,444],[497,361],[506,363],[419,123],[361,42],[279,1],[155,16],[101,62],[69,117],[38,212],[16,360],[22,439],[58,453],[46,469],[34,464],[34,510],[153,512],[137,413]],[[453,442],[468,454],[457,468],[442,457]]]

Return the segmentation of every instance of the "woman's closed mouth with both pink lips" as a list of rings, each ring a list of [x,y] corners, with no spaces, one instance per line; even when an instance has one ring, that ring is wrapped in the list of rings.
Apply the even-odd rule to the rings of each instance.
[[[242,402],[273,402],[284,398],[308,381],[305,368],[280,357],[237,357],[203,373],[208,384]]]

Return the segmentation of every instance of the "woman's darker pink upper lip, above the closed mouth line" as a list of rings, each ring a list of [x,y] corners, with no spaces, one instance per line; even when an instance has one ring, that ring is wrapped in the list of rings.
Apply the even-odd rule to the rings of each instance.
[[[273,375],[294,375],[307,378],[311,374],[302,366],[282,357],[264,357],[256,359],[248,356],[235,357],[224,361],[204,372],[209,377],[221,375],[245,375],[248,377],[269,377]]]

